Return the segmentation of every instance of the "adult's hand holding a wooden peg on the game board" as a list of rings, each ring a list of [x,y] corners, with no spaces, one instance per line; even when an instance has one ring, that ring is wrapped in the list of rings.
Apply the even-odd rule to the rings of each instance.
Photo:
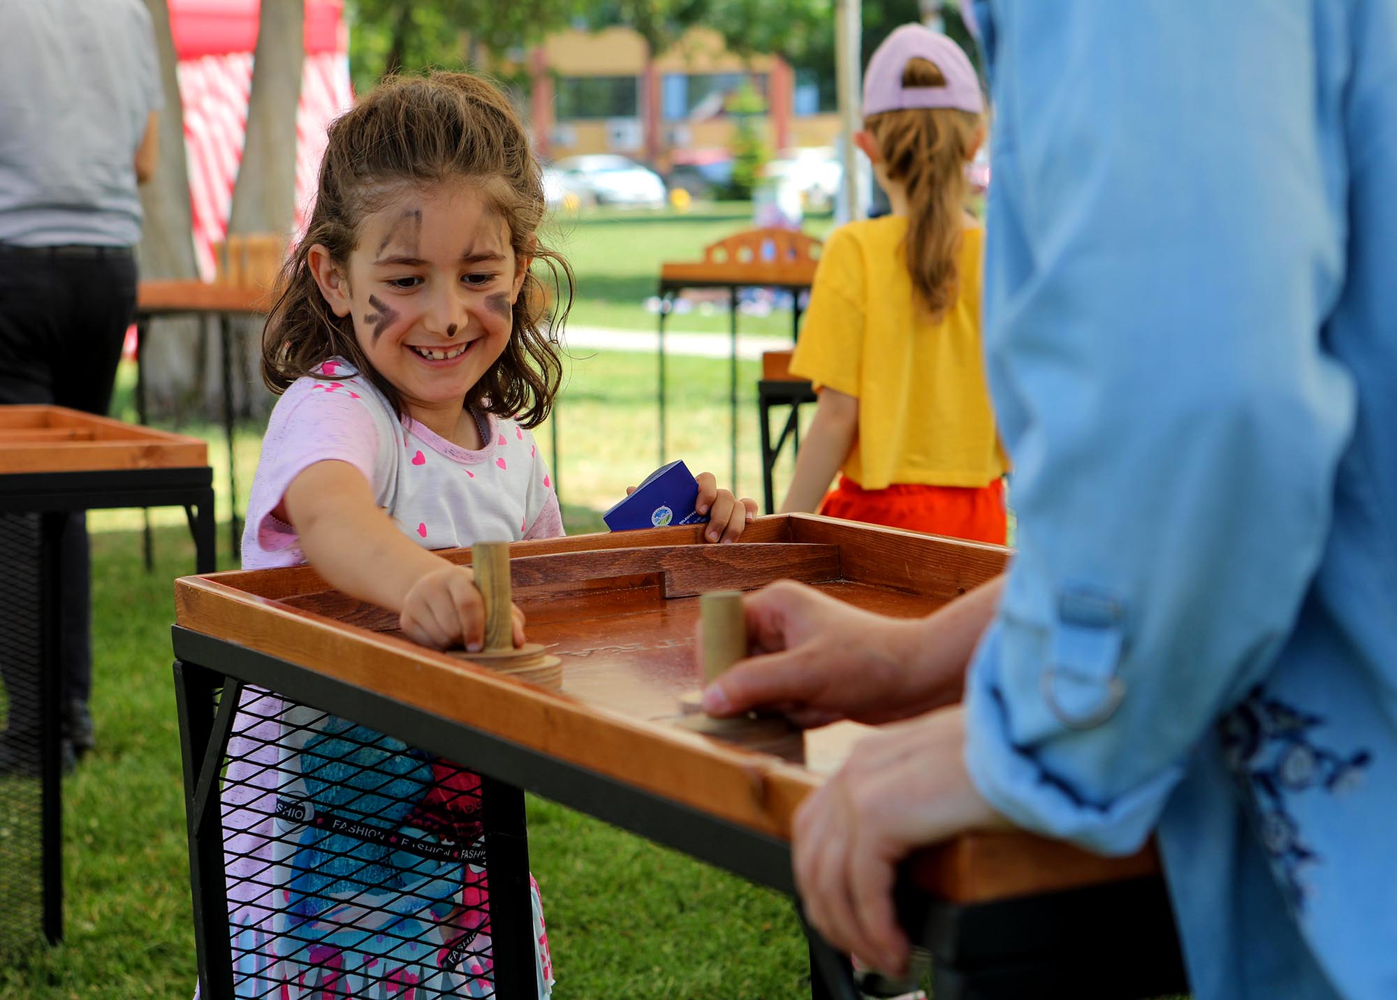
[[[796,725],[891,722],[960,700],[1002,577],[925,619],[875,615],[782,580],[743,599],[750,645],[703,696],[710,715],[781,711]]]

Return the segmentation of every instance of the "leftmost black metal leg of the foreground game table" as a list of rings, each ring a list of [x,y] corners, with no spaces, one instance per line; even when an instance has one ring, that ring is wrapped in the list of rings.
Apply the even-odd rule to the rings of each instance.
[[[224,689],[224,696],[215,711],[214,693],[219,687]],[[203,1000],[233,997],[218,778],[240,694],[240,682],[225,682],[214,670],[175,661],[175,701],[189,824],[189,873],[194,899],[194,948]]]

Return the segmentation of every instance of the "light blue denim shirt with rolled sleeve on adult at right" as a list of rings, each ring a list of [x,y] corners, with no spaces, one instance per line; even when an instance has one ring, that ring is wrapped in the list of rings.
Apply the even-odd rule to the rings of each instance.
[[[1157,834],[1203,1000],[1397,997],[1397,0],[977,3],[1016,823]]]

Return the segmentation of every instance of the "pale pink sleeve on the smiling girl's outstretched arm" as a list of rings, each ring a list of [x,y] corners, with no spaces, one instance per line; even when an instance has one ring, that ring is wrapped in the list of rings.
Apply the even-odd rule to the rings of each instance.
[[[296,476],[316,462],[348,462],[377,493],[377,454],[379,430],[369,404],[353,392],[349,383],[305,378],[286,390],[267,422],[261,459],[247,500],[243,568],[305,561],[295,528],[272,515]]]

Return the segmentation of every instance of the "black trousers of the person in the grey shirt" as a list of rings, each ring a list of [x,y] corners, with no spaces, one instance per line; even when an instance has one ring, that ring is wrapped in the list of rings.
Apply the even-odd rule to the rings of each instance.
[[[0,404],[106,415],[134,311],[130,250],[0,244]],[[63,697],[84,703],[92,690],[89,573],[87,517],[80,511],[68,515],[59,545],[59,658]],[[14,690],[18,677],[4,669],[6,686]]]

